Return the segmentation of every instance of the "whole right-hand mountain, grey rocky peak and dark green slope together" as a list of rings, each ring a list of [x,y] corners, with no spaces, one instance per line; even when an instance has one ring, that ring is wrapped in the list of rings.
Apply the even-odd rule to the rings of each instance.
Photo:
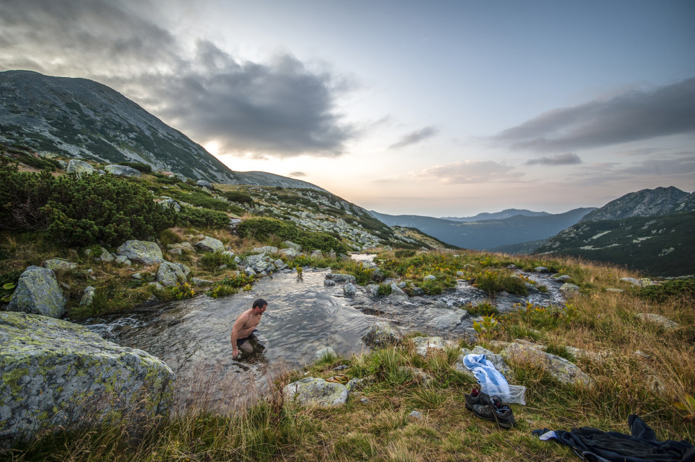
[[[616,263],[651,276],[695,274],[694,195],[673,186],[630,192],[585,215],[536,253]]]

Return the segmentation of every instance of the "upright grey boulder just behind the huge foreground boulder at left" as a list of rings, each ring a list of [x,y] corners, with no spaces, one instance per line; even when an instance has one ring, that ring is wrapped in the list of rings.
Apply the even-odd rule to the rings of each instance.
[[[23,311],[50,317],[65,314],[65,295],[58,286],[53,270],[30,266],[17,281],[17,288],[8,304],[8,311]]]

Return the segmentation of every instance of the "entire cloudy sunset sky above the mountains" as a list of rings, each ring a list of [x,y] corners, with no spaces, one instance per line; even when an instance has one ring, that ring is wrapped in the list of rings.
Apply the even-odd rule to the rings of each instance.
[[[692,0],[0,0],[0,71],[104,83],[231,170],[391,215],[695,190]]]

